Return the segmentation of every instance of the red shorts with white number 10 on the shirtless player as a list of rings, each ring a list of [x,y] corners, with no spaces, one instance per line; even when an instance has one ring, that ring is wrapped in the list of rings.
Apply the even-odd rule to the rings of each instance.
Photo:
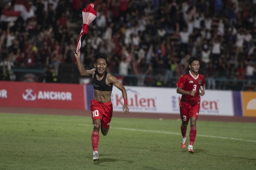
[[[103,128],[109,128],[109,124],[112,118],[113,105],[112,102],[99,102],[95,99],[91,100],[91,118],[100,119]]]

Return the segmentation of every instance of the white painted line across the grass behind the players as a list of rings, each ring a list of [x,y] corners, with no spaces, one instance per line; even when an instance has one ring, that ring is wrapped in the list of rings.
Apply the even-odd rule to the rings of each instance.
[[[88,124],[79,124],[79,125],[91,126],[91,125],[88,125]],[[152,131],[152,130],[131,129],[131,128],[118,128],[118,127],[110,127],[110,128],[111,129],[127,130],[127,131],[136,131],[136,132],[148,132],[148,133],[163,133],[163,134],[171,134],[171,135],[181,135],[181,133],[176,133],[176,132]],[[246,141],[246,142],[256,142],[256,140],[239,139],[239,138],[232,138],[232,137],[199,135],[199,134],[197,134],[197,136],[208,137],[208,138],[218,138],[218,139],[240,140],[240,141]]]

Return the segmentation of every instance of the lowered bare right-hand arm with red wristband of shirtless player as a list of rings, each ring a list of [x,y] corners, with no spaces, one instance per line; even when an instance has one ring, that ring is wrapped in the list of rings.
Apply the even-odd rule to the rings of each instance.
[[[124,113],[129,113],[129,108],[127,106],[127,92],[126,92],[125,87],[120,82],[117,81],[116,77],[114,77],[112,75],[108,76],[107,80],[110,83],[113,83],[114,86],[116,86],[119,90],[122,91],[122,96],[124,98],[123,111],[124,111]]]

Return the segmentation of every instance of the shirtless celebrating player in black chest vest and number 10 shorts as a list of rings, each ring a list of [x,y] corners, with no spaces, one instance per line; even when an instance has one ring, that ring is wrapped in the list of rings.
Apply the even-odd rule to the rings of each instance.
[[[81,60],[80,51],[75,53],[77,67],[82,76],[93,77],[94,98],[91,100],[91,118],[93,119],[93,132],[91,133],[91,142],[93,146],[93,160],[99,160],[98,143],[99,131],[103,136],[109,131],[109,124],[112,118],[113,105],[111,102],[111,93],[113,85],[122,91],[124,98],[123,111],[129,113],[127,106],[127,92],[125,87],[117,81],[116,77],[106,72],[107,57],[104,54],[95,56],[94,67],[91,70],[85,70]]]

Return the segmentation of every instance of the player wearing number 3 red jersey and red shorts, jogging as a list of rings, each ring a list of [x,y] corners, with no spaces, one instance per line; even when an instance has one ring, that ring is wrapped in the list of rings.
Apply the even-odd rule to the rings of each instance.
[[[180,101],[181,124],[181,148],[186,148],[186,132],[190,119],[189,145],[188,152],[194,153],[193,145],[196,138],[196,121],[200,109],[200,95],[205,93],[204,75],[199,74],[199,58],[190,57],[188,60],[190,70],[184,73],[177,82],[177,93],[182,94]],[[199,91],[201,89],[201,92]]]

